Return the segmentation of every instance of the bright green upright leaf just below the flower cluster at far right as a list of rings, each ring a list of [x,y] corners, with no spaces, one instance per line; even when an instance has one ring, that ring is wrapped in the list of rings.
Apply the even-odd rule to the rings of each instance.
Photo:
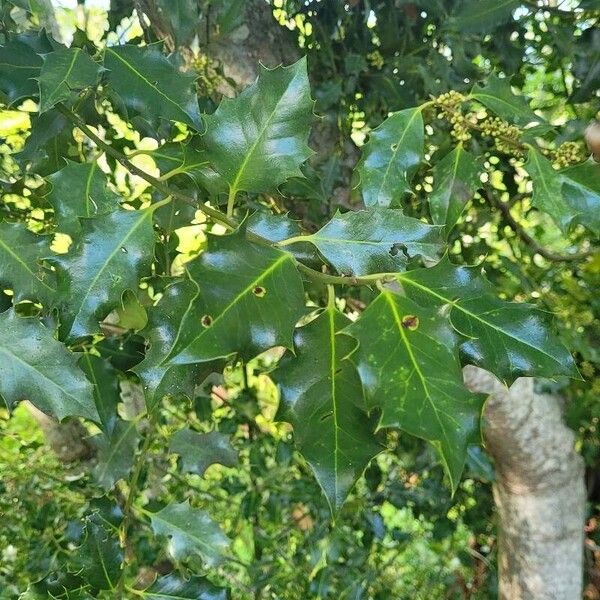
[[[569,206],[562,195],[563,181],[550,161],[534,148],[529,149],[525,170],[533,183],[533,205],[547,213],[553,221],[567,233],[576,211]]]

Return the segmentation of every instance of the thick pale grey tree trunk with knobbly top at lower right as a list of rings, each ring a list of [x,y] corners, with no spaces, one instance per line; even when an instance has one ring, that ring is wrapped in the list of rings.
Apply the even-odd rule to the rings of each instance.
[[[506,388],[465,367],[469,389],[490,394],[484,441],[496,466],[500,600],[577,600],[583,587],[585,485],[561,401],[533,379]]]

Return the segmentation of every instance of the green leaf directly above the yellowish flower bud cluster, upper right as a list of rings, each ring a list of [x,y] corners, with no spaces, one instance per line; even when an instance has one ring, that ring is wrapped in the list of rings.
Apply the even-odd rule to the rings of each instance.
[[[492,1],[494,4],[498,4],[495,0]],[[529,102],[524,96],[513,94],[507,79],[500,79],[493,73],[488,76],[485,83],[476,84],[473,87],[471,98],[509,122],[519,125],[544,122],[542,117],[538,117],[531,110]]]

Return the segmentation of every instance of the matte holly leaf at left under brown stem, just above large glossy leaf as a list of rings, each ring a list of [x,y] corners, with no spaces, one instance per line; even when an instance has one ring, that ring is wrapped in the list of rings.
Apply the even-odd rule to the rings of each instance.
[[[119,197],[108,188],[96,161],[71,163],[46,180],[51,186],[46,198],[54,208],[58,230],[72,238],[81,232],[80,217],[104,215],[119,207]]]

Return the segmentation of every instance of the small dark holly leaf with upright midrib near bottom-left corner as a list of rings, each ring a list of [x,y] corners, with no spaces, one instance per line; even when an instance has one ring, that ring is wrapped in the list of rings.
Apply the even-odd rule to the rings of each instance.
[[[116,528],[99,514],[85,518],[85,538],[73,556],[73,566],[98,590],[115,590],[121,578],[123,550]]]

